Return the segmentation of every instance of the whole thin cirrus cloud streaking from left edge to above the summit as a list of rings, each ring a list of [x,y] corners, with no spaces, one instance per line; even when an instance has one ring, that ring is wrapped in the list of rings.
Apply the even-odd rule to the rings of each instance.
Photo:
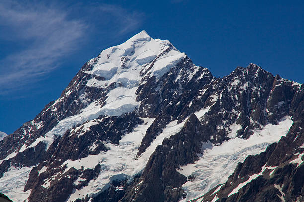
[[[80,10],[81,16],[77,16]],[[139,15],[108,4],[1,1],[0,29],[6,31],[0,40],[26,46],[11,47],[5,57],[0,55],[0,95],[43,79],[60,66],[60,59],[79,50],[92,35],[102,36],[111,30],[118,36],[136,29],[141,23]]]

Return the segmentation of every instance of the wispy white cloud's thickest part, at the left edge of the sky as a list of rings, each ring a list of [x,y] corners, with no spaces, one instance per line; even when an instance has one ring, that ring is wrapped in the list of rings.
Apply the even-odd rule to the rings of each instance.
[[[20,88],[54,70],[55,62],[75,48],[75,41],[87,28],[84,22],[68,19],[59,9],[13,1],[1,1],[0,24],[6,27],[2,38],[27,43],[24,50],[0,61],[2,92]]]

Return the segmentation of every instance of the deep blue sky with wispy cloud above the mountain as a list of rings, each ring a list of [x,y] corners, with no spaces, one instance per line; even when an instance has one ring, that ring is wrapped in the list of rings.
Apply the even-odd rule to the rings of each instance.
[[[255,63],[304,83],[304,1],[0,1],[0,131],[57,99],[89,59],[141,30],[216,77]]]

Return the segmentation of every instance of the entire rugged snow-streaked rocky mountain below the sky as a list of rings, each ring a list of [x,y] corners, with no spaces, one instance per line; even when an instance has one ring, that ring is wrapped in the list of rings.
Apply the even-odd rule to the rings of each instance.
[[[301,201],[304,86],[255,64],[223,78],[145,31],[88,61],[0,141],[27,202]]]

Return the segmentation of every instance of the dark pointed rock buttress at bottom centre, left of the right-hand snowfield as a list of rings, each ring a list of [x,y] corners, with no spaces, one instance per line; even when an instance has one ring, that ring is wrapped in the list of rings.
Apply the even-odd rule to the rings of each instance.
[[[191,114],[179,133],[165,138],[162,145],[157,146],[139,178],[141,183],[133,184],[121,202],[142,202],[147,199],[151,202],[175,202],[185,195],[181,185],[187,178],[176,169],[178,165],[198,159],[202,141],[207,141],[207,136],[203,133],[200,121]]]

